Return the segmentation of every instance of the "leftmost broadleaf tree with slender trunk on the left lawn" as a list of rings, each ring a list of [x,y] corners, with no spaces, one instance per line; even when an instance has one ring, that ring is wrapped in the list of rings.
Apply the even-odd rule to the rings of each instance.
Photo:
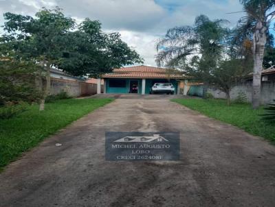
[[[15,43],[14,49],[17,50],[17,55],[35,60],[46,71],[46,87],[40,104],[40,110],[44,110],[45,97],[50,94],[50,69],[56,60],[62,58],[66,47],[63,38],[74,29],[75,22],[66,17],[60,8],[54,10],[43,8],[35,16],[36,18],[5,13],[4,29],[10,33],[10,40]],[[42,74],[43,71],[39,73]]]

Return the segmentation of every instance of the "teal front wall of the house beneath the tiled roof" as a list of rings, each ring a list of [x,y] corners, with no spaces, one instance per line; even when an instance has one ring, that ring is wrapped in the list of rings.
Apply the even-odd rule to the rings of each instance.
[[[119,80],[119,79],[118,79]],[[138,93],[142,93],[142,80],[141,79],[126,79],[126,87],[124,88],[117,88],[117,87],[109,87],[109,79],[106,79],[106,93],[129,93],[130,89],[130,81],[137,80],[138,81]],[[163,82],[164,79],[146,79],[145,82],[145,94],[149,94],[150,90],[153,86],[153,82]],[[170,80],[169,81],[175,87],[175,94],[177,94],[177,81]]]

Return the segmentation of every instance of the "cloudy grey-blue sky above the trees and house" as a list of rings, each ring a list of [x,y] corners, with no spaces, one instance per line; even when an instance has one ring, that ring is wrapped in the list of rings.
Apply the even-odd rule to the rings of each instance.
[[[195,16],[228,19],[236,25],[242,6],[239,0],[0,0],[0,12],[33,15],[42,7],[63,8],[77,21],[89,17],[99,20],[106,32],[120,32],[146,65],[155,66],[156,40],[170,27],[192,25]],[[0,18],[3,25],[3,15]]]

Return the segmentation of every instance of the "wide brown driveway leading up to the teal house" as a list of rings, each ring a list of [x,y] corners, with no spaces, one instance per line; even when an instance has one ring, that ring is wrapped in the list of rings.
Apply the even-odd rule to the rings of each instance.
[[[105,161],[105,131],[179,131],[181,160]],[[169,97],[121,96],[13,162],[0,206],[275,206],[275,147]]]

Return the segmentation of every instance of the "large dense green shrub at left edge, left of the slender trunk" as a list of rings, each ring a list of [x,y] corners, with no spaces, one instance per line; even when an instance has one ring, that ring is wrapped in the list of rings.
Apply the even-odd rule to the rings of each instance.
[[[36,66],[32,62],[0,60],[0,102],[32,102],[41,99],[35,84]]]

